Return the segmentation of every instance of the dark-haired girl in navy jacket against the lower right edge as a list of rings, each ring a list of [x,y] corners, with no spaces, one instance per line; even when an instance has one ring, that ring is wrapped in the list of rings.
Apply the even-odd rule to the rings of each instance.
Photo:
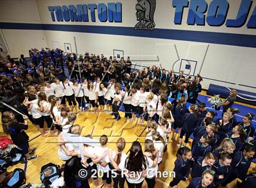
[[[227,181],[225,181],[222,186],[226,186],[226,184],[232,182],[236,178],[240,180],[244,180],[246,178],[246,173],[251,166],[252,158],[255,155],[255,148],[251,144],[244,144],[243,151],[236,152],[235,156],[233,156],[231,163],[231,173]]]

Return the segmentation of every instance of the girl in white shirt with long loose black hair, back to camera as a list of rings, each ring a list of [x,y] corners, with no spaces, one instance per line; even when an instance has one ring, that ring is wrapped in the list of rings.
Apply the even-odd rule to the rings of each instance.
[[[140,162],[140,163],[138,163]],[[141,149],[141,144],[138,141],[132,143],[130,147],[130,154],[126,158],[126,170],[128,171],[126,175],[126,182],[128,187],[140,188],[143,184],[144,177],[146,176],[146,170],[152,167],[154,162],[151,158],[144,155]],[[135,175],[137,173],[142,173],[142,176]]]

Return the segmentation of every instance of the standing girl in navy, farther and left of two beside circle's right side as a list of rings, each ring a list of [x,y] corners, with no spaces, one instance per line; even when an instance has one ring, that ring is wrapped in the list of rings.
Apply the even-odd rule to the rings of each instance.
[[[183,116],[185,115],[185,113],[187,112],[187,109],[186,109],[186,99],[184,96],[180,97],[178,103],[177,103],[177,106],[175,108],[175,111],[174,111],[174,126],[172,127],[172,135],[174,135],[174,132],[177,128],[179,128],[178,130],[178,134],[180,136],[180,130],[181,130],[181,127],[182,127],[182,119],[183,119]],[[172,136],[172,140],[174,140],[174,136]]]

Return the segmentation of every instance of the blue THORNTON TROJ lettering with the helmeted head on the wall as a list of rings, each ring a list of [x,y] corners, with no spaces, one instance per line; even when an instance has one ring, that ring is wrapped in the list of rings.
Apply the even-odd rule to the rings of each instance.
[[[232,2],[232,1],[230,1]],[[246,27],[256,28],[256,7],[252,7],[251,0],[241,0],[235,19],[227,18],[232,3],[227,0],[172,0],[170,7],[174,8],[174,24],[181,25],[205,25],[213,27],[226,25],[226,27],[242,27],[246,21]],[[137,24],[134,29],[154,30],[157,23],[154,22],[155,8],[160,1],[137,0],[134,4]],[[250,10],[252,14],[249,15]],[[122,3],[108,2],[99,4],[54,5],[49,6],[52,21],[57,22],[122,22]],[[182,23],[182,16],[187,12],[187,22]],[[160,14],[160,13],[159,13]],[[90,16],[88,16],[90,15]],[[168,18],[166,18],[168,19]]]

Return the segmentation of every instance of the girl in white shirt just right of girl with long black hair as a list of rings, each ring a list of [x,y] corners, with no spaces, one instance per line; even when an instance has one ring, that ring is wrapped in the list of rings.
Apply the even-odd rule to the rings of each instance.
[[[148,176],[145,178],[148,188],[154,188],[155,187],[155,175],[157,175],[158,170],[158,150],[155,149],[154,143],[151,139],[146,139],[144,142],[144,155],[151,158],[154,163],[151,168],[149,168]]]

